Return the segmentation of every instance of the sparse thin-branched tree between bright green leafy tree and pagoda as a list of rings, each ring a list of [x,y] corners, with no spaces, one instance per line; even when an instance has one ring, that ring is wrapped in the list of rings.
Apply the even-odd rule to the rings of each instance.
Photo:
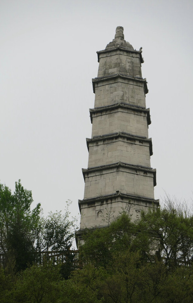
[[[36,240],[38,263],[42,264],[41,253],[44,251],[46,252],[46,260],[53,258],[52,255],[50,257],[52,251],[58,251],[62,254],[63,263],[60,273],[65,279],[68,279],[73,270],[73,255],[70,253],[70,248],[72,247],[74,231],[78,228],[77,218],[70,218],[69,206],[71,203],[70,200],[66,201],[64,214],[62,211],[50,212],[47,218],[41,218]]]

